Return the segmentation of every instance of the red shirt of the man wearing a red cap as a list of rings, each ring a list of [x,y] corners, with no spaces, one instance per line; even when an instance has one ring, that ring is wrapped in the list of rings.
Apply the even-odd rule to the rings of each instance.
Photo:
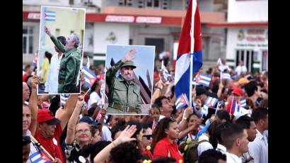
[[[54,137],[45,138],[40,135],[40,133],[35,133],[35,139],[40,142],[40,145],[47,150],[47,152],[52,155],[52,157],[57,157],[62,160],[62,162],[66,162],[66,159],[64,158],[62,154],[62,148],[59,142],[60,136],[62,135],[62,126],[60,123],[57,123],[57,128],[55,128],[54,131]]]

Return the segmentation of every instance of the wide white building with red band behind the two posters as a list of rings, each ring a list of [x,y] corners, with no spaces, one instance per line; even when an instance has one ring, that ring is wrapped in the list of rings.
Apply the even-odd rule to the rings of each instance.
[[[38,48],[41,5],[86,8],[84,55],[93,58],[91,64],[97,65],[105,63],[107,45],[155,45],[156,59],[167,50],[173,60],[173,47],[179,40],[187,3],[187,0],[23,0],[23,66],[32,62]],[[226,16],[215,11],[214,0],[197,3],[202,19],[204,62],[215,62],[225,57],[226,35],[224,29],[207,27],[207,23],[225,22]],[[33,31],[25,33],[25,28]]]

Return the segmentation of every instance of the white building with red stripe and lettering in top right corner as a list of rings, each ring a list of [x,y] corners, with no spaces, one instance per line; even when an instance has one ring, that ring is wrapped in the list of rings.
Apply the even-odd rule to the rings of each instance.
[[[243,60],[250,72],[267,71],[268,1],[228,0],[228,23],[227,63]]]

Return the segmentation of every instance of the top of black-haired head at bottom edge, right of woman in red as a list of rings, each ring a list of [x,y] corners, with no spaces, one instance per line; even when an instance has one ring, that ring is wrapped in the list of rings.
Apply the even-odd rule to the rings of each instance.
[[[217,150],[209,149],[199,156],[199,163],[218,163],[219,159],[222,159],[226,162],[226,154],[223,154]]]

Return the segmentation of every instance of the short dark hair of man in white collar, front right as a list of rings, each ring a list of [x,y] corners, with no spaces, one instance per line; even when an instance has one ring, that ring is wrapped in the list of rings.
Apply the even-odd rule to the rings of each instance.
[[[243,130],[244,128],[240,124],[228,124],[228,128],[222,130],[221,140],[226,149],[231,149],[235,140],[243,136]]]

